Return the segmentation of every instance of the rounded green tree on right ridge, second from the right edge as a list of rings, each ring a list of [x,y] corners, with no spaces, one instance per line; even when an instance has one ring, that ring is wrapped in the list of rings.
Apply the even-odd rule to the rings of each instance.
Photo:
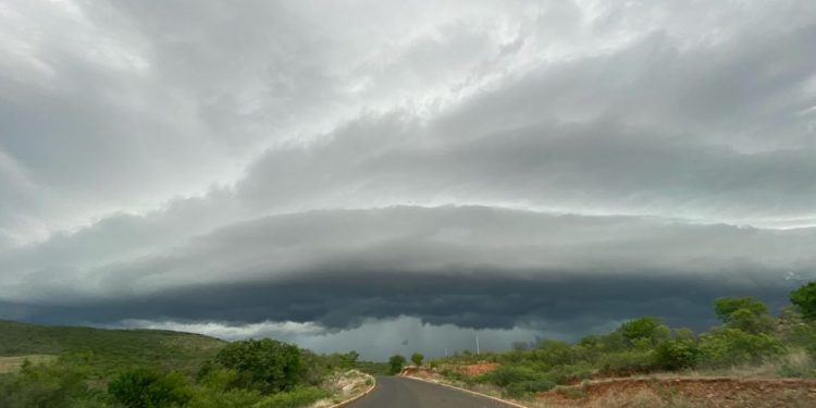
[[[721,297],[714,301],[714,312],[727,326],[746,333],[768,333],[774,329],[768,308],[750,296]]]

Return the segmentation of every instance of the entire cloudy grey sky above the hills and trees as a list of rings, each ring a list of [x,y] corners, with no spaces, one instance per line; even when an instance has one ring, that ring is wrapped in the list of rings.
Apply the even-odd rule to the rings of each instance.
[[[5,1],[0,319],[363,358],[816,279],[816,2]]]

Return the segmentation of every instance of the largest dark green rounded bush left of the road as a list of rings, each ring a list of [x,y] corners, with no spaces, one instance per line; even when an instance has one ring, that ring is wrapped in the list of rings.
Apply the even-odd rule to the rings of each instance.
[[[215,361],[238,373],[238,386],[264,394],[292,390],[302,376],[300,349],[270,338],[231,343]]]

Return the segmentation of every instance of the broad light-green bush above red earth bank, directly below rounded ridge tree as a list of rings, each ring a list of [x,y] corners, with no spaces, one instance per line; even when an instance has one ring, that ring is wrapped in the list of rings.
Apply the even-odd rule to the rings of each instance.
[[[767,334],[746,333],[722,327],[701,336],[702,362],[708,366],[757,363],[767,357],[784,353],[782,343]]]

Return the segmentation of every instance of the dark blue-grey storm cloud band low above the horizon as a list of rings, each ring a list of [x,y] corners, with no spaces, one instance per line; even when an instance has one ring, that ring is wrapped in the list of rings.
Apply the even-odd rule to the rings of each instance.
[[[537,273],[540,276],[542,273]],[[750,282],[749,282],[750,281]],[[751,295],[776,310],[794,282],[737,283],[715,277],[617,276],[520,279],[492,272],[382,273],[334,271],[276,282],[189,286],[148,297],[79,305],[0,305],[7,317],[47,324],[115,324],[123,320],[317,322],[329,330],[364,319],[419,317],[473,329],[542,329],[571,337],[608,322],[657,316],[672,325],[714,324],[713,299]]]

